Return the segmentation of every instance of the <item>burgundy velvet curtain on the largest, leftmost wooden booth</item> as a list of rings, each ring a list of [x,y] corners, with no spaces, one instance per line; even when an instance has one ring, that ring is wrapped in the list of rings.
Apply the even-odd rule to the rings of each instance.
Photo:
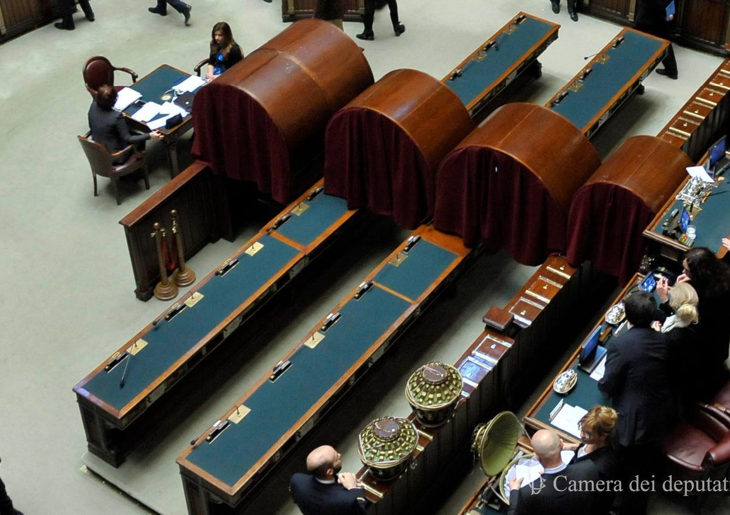
[[[269,114],[250,95],[211,82],[195,95],[193,157],[215,172],[258,185],[280,203],[291,200],[289,149]]]

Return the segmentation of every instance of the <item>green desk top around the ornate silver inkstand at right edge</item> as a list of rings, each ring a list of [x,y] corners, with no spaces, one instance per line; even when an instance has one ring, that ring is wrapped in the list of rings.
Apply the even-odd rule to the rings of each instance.
[[[719,194],[725,192],[723,194]],[[707,201],[700,204],[702,208],[692,221],[692,225],[697,228],[697,235],[693,247],[707,247],[712,252],[717,252],[722,244],[723,237],[727,237],[730,233],[730,173],[726,172],[725,180],[720,186],[712,191],[712,196],[707,197]],[[661,235],[661,224],[669,218],[669,213],[675,208],[682,209],[683,203],[677,200],[672,208],[669,208],[666,215],[659,224],[652,230],[656,234]]]

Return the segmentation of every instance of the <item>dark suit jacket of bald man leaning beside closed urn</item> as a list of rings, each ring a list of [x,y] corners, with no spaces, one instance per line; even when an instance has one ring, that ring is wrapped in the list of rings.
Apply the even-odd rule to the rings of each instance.
[[[310,474],[291,476],[291,497],[304,515],[364,515],[365,492],[341,484],[323,484]]]

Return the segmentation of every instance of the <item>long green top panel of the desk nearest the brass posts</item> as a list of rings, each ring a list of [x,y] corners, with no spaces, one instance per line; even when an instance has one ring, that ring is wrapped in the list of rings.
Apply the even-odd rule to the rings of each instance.
[[[254,256],[239,253],[237,266],[204,283],[197,290],[204,298],[197,304],[186,307],[170,321],[163,318],[143,334],[147,347],[137,355],[128,355],[109,372],[101,370],[83,388],[115,409],[122,409],[299,254],[296,248],[269,236],[261,237],[258,243],[264,248]],[[127,360],[131,361],[125,385],[119,388]]]

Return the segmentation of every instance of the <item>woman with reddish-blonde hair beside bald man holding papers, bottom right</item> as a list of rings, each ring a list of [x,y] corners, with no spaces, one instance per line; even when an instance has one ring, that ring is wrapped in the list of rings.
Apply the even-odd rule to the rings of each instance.
[[[593,406],[578,422],[582,444],[564,444],[566,450],[575,450],[571,463],[591,460],[598,471],[600,479],[607,481],[618,479],[621,462],[615,448],[615,427],[618,414],[607,406]],[[610,490],[610,489],[609,489]],[[605,508],[601,513],[609,513],[615,492],[600,494],[602,502],[597,506]]]

